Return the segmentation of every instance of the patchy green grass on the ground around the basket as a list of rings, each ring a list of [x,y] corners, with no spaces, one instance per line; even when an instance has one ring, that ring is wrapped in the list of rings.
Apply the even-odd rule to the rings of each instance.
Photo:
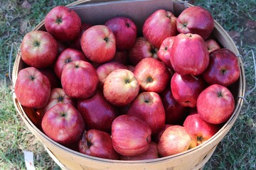
[[[28,2],[26,4],[26,2]],[[0,2],[0,169],[26,169],[23,150],[33,151],[36,169],[60,169],[48,156],[43,145],[31,134],[14,108],[12,86],[9,81],[9,53],[11,43],[19,47],[23,36],[43,20],[50,8],[71,1]],[[256,55],[256,3],[254,0],[194,0],[194,5],[207,8],[218,23],[235,40],[246,75],[247,91],[255,86],[252,52]],[[255,25],[253,25],[255,24]],[[13,52],[11,63],[14,63]],[[246,55],[247,54],[247,55]],[[11,65],[12,67],[12,65]],[[256,94],[246,96],[247,103],[233,128],[218,145],[204,169],[256,169]]]

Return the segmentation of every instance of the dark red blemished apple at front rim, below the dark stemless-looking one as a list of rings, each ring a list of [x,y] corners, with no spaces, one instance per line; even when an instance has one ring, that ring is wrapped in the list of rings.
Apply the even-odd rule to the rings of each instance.
[[[107,132],[88,130],[82,133],[78,143],[78,150],[82,154],[105,159],[119,159],[112,145],[112,138]]]

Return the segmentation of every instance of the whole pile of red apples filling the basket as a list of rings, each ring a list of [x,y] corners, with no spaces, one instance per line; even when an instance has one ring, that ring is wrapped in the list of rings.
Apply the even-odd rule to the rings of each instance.
[[[166,157],[201,145],[233,114],[238,59],[218,45],[200,6],[177,17],[154,11],[143,35],[131,18],[92,26],[65,6],[45,28],[23,38],[14,91],[65,147],[105,159]]]

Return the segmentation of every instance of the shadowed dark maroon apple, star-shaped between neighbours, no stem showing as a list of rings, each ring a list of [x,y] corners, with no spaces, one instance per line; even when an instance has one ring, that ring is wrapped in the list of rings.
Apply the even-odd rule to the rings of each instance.
[[[91,98],[78,100],[77,108],[85,121],[86,130],[95,129],[111,132],[111,125],[117,118],[117,108],[106,101],[100,91]]]

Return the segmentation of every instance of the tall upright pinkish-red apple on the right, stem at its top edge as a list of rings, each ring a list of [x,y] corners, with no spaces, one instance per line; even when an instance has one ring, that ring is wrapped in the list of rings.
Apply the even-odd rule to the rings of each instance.
[[[209,64],[206,42],[200,35],[183,34],[176,36],[171,47],[171,66],[178,74],[202,74]]]

